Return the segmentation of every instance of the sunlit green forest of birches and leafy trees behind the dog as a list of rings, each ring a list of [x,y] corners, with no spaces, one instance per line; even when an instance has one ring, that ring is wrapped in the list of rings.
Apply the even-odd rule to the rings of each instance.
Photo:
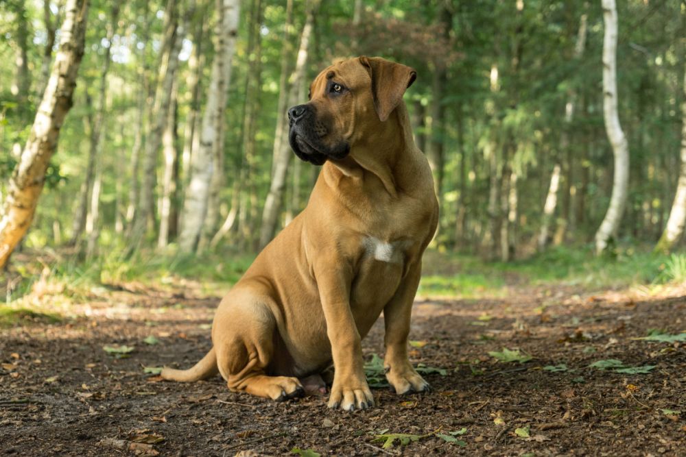
[[[604,126],[600,2],[89,3],[73,107],[19,245],[40,253],[41,269],[106,281],[141,264],[190,262],[197,273],[198,255],[249,262],[305,206],[318,174],[292,158],[285,108],[350,55],[418,71],[405,101],[440,200],[431,249],[560,275],[628,262],[628,281],[686,269],[686,197],[675,199],[686,180],[682,1],[617,7],[628,186],[604,243],[617,163]],[[5,207],[65,10],[63,1],[0,5]],[[667,237],[672,213],[681,225]],[[10,272],[21,278],[8,278],[8,297],[36,279],[35,269]]]

